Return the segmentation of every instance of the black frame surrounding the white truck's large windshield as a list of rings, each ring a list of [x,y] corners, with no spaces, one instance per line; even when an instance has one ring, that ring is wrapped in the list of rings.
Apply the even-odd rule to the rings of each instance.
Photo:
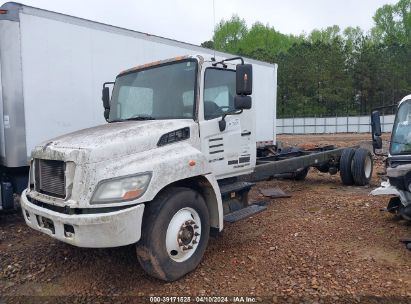
[[[192,120],[194,120],[194,121],[197,122],[197,121],[198,121],[198,92],[199,92],[199,90],[198,90],[198,78],[199,78],[199,76],[198,76],[198,71],[199,71],[199,65],[200,65],[200,63],[199,63],[199,61],[198,61],[196,58],[190,58],[190,57],[189,57],[189,58],[184,58],[184,59],[181,59],[181,60],[172,60],[172,61],[167,60],[167,61],[162,62],[162,63],[159,63],[159,64],[144,65],[144,66],[142,66],[141,68],[131,69],[131,70],[122,72],[122,73],[120,73],[120,74],[118,74],[118,75],[116,76],[116,80],[115,80],[115,82],[114,82],[114,86],[113,86],[113,91],[112,91],[112,92],[114,92],[114,88],[115,88],[115,86],[116,86],[117,79],[120,78],[120,77],[127,76],[127,75],[134,74],[134,73],[139,73],[139,72],[142,72],[142,71],[151,70],[151,69],[161,68],[161,67],[168,66],[168,65],[184,63],[184,62],[193,62],[193,63],[195,63],[195,70],[194,70],[194,77],[195,77],[195,78],[194,78],[194,87],[193,87],[193,92],[194,92],[194,94],[193,94],[193,95],[194,95],[194,100],[193,100],[193,117],[190,117],[190,118],[188,118],[188,117],[187,117],[187,118],[176,118],[176,117],[170,117],[170,118],[154,118],[154,120],[192,119]],[[113,93],[112,93],[111,96],[110,96],[110,108],[111,108],[111,106],[112,106],[112,100],[113,100]],[[110,111],[110,112],[111,112],[111,111]],[[114,123],[114,122],[132,121],[132,120],[133,120],[133,119],[109,119],[109,120],[107,120],[107,122],[108,122],[108,123]],[[135,120],[138,120],[138,119],[135,119]]]

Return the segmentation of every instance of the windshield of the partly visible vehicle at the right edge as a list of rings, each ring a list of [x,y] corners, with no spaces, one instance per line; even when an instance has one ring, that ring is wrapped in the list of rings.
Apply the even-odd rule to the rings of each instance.
[[[401,103],[398,108],[392,128],[390,152],[392,155],[411,153],[411,99]]]

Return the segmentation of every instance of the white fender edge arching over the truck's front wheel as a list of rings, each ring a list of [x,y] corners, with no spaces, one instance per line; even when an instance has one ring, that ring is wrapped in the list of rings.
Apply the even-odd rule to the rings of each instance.
[[[213,228],[220,228],[218,201],[213,186],[210,184],[207,178],[205,178],[204,176],[195,176],[182,179],[167,185],[160,191],[160,193],[172,187],[190,188],[200,193],[207,204],[208,213],[210,215],[210,226]]]

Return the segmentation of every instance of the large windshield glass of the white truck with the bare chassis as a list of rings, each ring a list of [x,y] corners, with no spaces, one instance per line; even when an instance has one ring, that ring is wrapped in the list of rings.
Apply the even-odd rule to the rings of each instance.
[[[117,77],[109,121],[194,119],[196,70],[186,60]]]

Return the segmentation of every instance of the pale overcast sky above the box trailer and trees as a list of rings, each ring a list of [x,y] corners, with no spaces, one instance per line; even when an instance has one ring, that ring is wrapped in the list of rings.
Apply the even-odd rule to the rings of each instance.
[[[299,35],[337,24],[368,31],[375,11],[397,0],[16,0],[193,44],[211,40],[214,20],[236,14],[251,26],[260,21],[284,34]],[[2,2],[0,2],[2,3]],[[215,14],[213,14],[213,11]]]

